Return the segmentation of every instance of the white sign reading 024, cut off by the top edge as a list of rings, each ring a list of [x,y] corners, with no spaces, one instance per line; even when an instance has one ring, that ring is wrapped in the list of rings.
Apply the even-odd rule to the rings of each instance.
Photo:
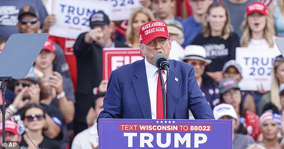
[[[110,20],[121,21],[128,20],[132,11],[141,7],[140,0],[101,0],[108,1],[112,4],[112,15]]]

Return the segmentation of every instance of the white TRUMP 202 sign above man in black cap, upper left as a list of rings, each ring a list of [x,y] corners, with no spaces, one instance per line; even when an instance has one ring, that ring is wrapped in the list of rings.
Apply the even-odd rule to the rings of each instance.
[[[80,33],[90,30],[89,18],[97,11],[111,16],[111,3],[97,0],[53,0],[51,12],[55,14],[56,22],[50,26],[49,34],[77,39]]]

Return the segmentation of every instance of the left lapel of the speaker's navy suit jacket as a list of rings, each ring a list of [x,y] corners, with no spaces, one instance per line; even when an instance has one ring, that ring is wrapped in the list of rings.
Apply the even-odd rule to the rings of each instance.
[[[142,111],[143,118],[151,119],[151,103],[148,91],[144,59],[138,65],[135,71],[135,76],[137,77],[137,79],[133,81],[133,87],[140,109]]]

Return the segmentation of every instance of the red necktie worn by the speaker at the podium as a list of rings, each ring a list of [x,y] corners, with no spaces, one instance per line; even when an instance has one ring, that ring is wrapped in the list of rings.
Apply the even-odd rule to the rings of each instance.
[[[164,70],[161,70],[161,74],[163,76]],[[162,77],[162,81],[164,84],[164,79]],[[165,92],[166,93],[166,92]],[[165,96],[165,101],[166,101],[166,96]],[[158,81],[157,81],[157,119],[163,119],[163,94],[162,94],[162,88],[161,88],[161,83],[160,83],[160,77],[158,75]],[[166,116],[167,117],[167,116]]]

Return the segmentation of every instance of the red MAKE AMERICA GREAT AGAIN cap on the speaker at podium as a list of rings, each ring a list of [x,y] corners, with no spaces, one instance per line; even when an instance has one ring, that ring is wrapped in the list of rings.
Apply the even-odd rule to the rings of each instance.
[[[152,40],[158,37],[170,39],[167,25],[164,21],[153,20],[141,25],[139,30],[140,44],[148,45]]]

